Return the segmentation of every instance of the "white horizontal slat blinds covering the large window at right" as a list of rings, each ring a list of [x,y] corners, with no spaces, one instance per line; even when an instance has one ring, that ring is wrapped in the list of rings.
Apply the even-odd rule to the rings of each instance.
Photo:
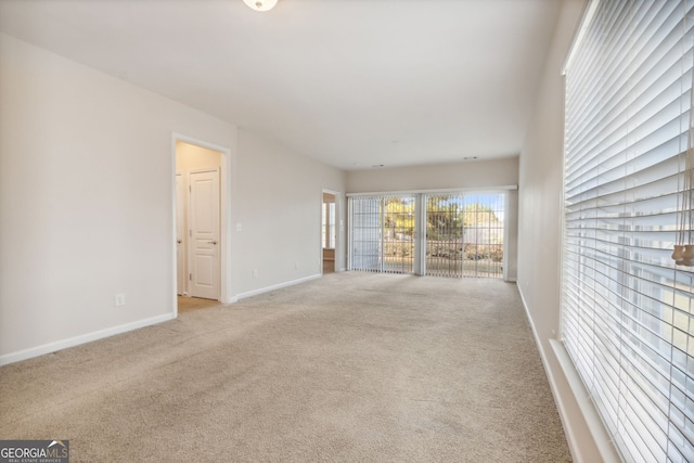
[[[670,257],[693,3],[593,1],[566,69],[562,337],[629,462],[694,462],[693,274]]]

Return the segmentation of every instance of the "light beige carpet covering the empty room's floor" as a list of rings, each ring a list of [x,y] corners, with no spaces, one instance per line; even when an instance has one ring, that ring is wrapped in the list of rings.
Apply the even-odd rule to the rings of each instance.
[[[514,284],[333,273],[0,369],[74,462],[566,462]]]

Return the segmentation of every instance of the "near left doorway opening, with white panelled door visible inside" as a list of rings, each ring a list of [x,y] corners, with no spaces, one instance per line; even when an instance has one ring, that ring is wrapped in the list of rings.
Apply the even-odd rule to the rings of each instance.
[[[222,158],[219,151],[176,140],[176,293],[179,298],[222,300]]]

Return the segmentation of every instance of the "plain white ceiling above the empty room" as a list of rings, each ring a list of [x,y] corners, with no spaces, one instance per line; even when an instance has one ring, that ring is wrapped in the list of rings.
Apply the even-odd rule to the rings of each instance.
[[[519,153],[557,0],[0,0],[0,31],[345,168]]]

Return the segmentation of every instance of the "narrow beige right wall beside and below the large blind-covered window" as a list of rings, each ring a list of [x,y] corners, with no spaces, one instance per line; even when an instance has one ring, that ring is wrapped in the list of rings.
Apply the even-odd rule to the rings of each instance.
[[[560,246],[564,83],[562,68],[584,8],[566,0],[555,30],[535,112],[520,153],[517,284],[534,327],[538,348],[577,462],[600,462],[599,443],[579,409],[588,403],[575,395],[550,339],[560,336]],[[570,373],[570,372],[569,372]],[[580,386],[580,385],[579,385]],[[580,390],[580,387],[578,388]],[[582,396],[582,397],[580,397]],[[588,403],[590,406],[590,403]],[[592,419],[593,416],[589,416]],[[600,427],[600,423],[597,427]],[[600,436],[597,436],[600,437]],[[601,443],[602,445],[602,443]]]

